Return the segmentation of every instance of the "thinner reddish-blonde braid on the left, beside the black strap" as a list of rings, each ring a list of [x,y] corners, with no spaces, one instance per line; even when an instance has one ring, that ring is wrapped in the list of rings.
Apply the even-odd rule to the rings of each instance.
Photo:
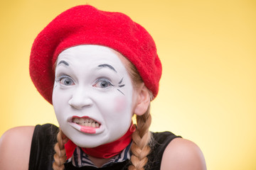
[[[57,134],[57,143],[54,146],[55,154],[54,154],[54,162],[53,169],[54,170],[63,170],[65,169],[64,163],[67,159],[65,153],[64,144],[68,142],[68,137],[66,137],[63,132],[60,130]]]

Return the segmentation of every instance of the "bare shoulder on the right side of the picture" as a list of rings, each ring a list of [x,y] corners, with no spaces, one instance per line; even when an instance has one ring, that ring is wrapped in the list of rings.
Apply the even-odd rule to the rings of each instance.
[[[201,149],[183,138],[172,140],[164,150],[161,170],[206,170],[206,162]]]

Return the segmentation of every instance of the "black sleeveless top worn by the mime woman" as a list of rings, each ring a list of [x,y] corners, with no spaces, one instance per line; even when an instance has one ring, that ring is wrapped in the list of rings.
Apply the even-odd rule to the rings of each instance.
[[[58,133],[58,127],[52,124],[36,125],[33,132],[33,138],[31,143],[31,154],[29,158],[28,170],[50,170],[53,164],[54,145],[57,142],[56,137]],[[151,146],[151,153],[148,156],[148,163],[145,169],[159,170],[161,166],[161,159],[164,154],[164,149],[169,142],[178,137],[171,132],[152,132],[153,145]],[[98,170],[127,170],[130,165],[130,161],[119,162],[112,164],[104,168],[98,168]],[[97,169],[92,166],[75,167],[72,162],[65,164],[65,169]]]

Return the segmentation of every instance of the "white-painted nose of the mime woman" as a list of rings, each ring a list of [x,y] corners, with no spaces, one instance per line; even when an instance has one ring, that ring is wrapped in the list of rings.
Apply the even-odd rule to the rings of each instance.
[[[68,101],[68,104],[72,108],[80,110],[84,107],[92,106],[92,99],[87,95],[85,91],[76,90]]]

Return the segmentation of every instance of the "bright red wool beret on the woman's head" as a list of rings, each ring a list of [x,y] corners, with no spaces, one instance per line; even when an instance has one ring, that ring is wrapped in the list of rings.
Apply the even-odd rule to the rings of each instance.
[[[31,79],[49,103],[52,103],[55,61],[60,52],[76,45],[104,45],[117,50],[134,64],[153,96],[157,95],[161,62],[151,35],[123,13],[84,5],[60,13],[33,42]]]

